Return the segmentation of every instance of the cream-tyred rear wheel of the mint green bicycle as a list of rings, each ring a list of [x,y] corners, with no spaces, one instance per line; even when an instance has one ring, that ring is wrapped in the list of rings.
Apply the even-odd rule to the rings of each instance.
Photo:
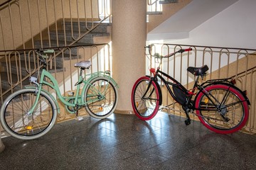
[[[107,118],[117,108],[117,87],[107,77],[97,77],[85,89],[85,110],[93,118]]]

